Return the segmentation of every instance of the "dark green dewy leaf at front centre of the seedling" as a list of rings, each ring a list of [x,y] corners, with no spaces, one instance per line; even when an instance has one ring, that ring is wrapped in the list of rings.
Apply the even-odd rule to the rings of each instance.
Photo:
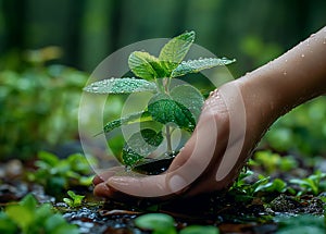
[[[148,111],[154,121],[162,124],[175,123],[188,132],[195,130],[196,120],[191,112],[181,103],[172,100],[167,95],[154,96],[148,106]]]

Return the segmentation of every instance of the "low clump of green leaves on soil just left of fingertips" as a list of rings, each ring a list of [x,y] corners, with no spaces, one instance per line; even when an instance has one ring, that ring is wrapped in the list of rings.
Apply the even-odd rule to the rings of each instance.
[[[60,195],[74,185],[91,185],[92,176],[89,174],[92,172],[89,161],[83,155],[75,153],[66,159],[59,159],[50,152],[40,151],[35,164],[38,169],[29,172],[27,177],[43,185],[50,195]]]

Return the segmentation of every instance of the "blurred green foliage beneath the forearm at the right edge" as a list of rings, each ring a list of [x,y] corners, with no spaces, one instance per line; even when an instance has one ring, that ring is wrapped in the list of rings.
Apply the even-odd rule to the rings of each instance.
[[[326,152],[326,97],[319,97],[292,110],[273,124],[263,138],[278,151],[323,156]]]

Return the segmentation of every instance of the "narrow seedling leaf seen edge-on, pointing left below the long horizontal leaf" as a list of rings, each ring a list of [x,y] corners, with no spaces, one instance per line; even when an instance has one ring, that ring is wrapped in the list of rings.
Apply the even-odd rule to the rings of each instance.
[[[133,124],[137,122],[147,122],[147,121],[152,121],[152,116],[148,111],[141,111],[106,123],[103,131],[104,133],[109,133],[112,130],[120,127],[121,125]]]

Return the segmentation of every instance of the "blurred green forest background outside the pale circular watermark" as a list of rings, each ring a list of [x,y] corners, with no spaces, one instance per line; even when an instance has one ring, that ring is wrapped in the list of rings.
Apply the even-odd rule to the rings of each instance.
[[[76,140],[88,74],[129,44],[196,30],[238,77],[326,25],[325,0],[0,0],[0,158]],[[325,97],[278,121],[265,146],[326,155]]]

